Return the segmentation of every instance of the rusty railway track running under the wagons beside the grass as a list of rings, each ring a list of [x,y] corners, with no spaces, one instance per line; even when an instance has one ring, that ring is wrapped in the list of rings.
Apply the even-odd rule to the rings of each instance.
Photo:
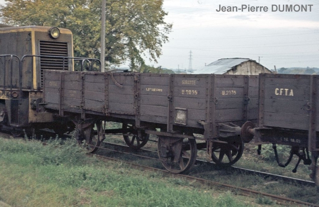
[[[48,133],[48,132],[45,132],[45,134],[50,135],[50,133]],[[10,135],[0,133],[0,136],[9,137]],[[52,137],[52,135],[51,135],[51,137]],[[157,158],[157,156],[158,156],[157,152],[153,151],[153,150],[147,150],[147,149],[134,150],[134,149],[132,149],[128,146],[122,145],[122,144],[115,144],[115,143],[111,143],[111,142],[103,142],[103,143],[104,143],[104,146],[101,147],[101,149],[104,149],[107,151],[114,151],[114,152],[118,152],[118,153],[122,153],[122,154],[134,155],[134,156],[138,156],[138,157],[142,157],[142,158],[146,158],[146,159],[153,159],[153,160],[160,161],[160,159]],[[143,153],[149,154],[151,156],[145,156],[145,155],[143,155]],[[194,176],[190,176],[190,175],[184,175],[184,174],[172,174],[172,173],[168,172],[167,170],[163,170],[160,168],[149,167],[149,166],[137,164],[137,163],[130,162],[130,161],[124,161],[123,159],[104,156],[103,153],[102,154],[101,153],[100,154],[88,154],[88,156],[97,156],[98,158],[103,159],[103,160],[121,161],[123,163],[129,164],[130,166],[133,166],[136,168],[161,172],[167,176],[171,176],[174,178],[183,178],[183,179],[187,179],[190,181],[196,181],[196,182],[198,182],[202,185],[205,185],[207,187],[211,187],[211,188],[214,187],[214,188],[222,189],[222,190],[230,190],[230,191],[236,192],[237,194],[244,195],[244,196],[252,196],[252,197],[257,197],[257,198],[258,197],[267,197],[271,200],[276,201],[277,204],[284,204],[284,205],[294,204],[297,206],[299,205],[299,206],[319,207],[319,205],[317,205],[317,204],[311,204],[308,202],[303,202],[303,201],[299,201],[299,200],[295,200],[295,199],[291,199],[291,198],[281,197],[278,195],[272,195],[272,194],[268,194],[268,193],[264,193],[264,192],[259,192],[259,191],[251,190],[248,188],[242,188],[242,187],[238,187],[238,186],[234,186],[234,185],[224,184],[221,182],[215,182],[215,181],[211,181],[208,179],[203,179],[203,178],[194,177]],[[210,162],[207,162],[204,160],[196,160],[196,165],[216,166],[214,163],[210,163]],[[298,184],[306,185],[306,186],[315,186],[314,182],[296,179],[296,178],[274,175],[274,174],[270,174],[270,173],[253,171],[253,170],[248,170],[248,169],[243,169],[243,168],[238,168],[238,167],[229,167],[228,169],[230,169],[231,171],[238,171],[238,172],[245,173],[245,174],[259,175],[259,176],[262,176],[265,178],[268,177],[268,178],[272,178],[273,180],[283,180],[284,182],[298,183]]]

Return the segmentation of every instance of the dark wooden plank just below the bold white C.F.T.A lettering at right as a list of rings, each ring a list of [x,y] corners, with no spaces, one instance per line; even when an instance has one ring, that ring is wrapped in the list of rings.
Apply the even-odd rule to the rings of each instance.
[[[264,111],[280,114],[309,115],[309,101],[265,98]]]

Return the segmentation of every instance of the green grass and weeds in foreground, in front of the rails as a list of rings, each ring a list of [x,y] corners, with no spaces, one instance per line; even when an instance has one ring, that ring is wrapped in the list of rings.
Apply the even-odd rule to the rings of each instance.
[[[63,143],[63,145],[62,145]],[[18,207],[247,207],[231,193],[87,157],[73,139],[0,138],[0,201]],[[214,193],[214,194],[213,194]],[[248,200],[245,198],[245,200]]]

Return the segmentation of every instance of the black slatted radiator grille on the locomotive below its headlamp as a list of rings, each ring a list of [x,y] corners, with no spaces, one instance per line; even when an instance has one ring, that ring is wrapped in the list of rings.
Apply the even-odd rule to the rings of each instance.
[[[68,57],[68,45],[66,42],[50,42],[40,41],[40,55],[41,56],[63,56]],[[68,59],[41,57],[41,87],[43,86],[43,70],[44,69],[58,69],[68,70]]]

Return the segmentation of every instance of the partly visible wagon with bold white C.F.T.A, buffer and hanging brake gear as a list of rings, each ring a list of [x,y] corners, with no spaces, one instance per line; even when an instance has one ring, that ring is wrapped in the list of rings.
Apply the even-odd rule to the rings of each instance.
[[[272,143],[279,166],[293,155],[311,165],[311,178],[319,186],[319,75],[260,74],[258,125],[242,126],[242,138],[259,144]],[[278,158],[276,144],[291,146],[286,163]],[[311,152],[311,155],[310,153]]]

